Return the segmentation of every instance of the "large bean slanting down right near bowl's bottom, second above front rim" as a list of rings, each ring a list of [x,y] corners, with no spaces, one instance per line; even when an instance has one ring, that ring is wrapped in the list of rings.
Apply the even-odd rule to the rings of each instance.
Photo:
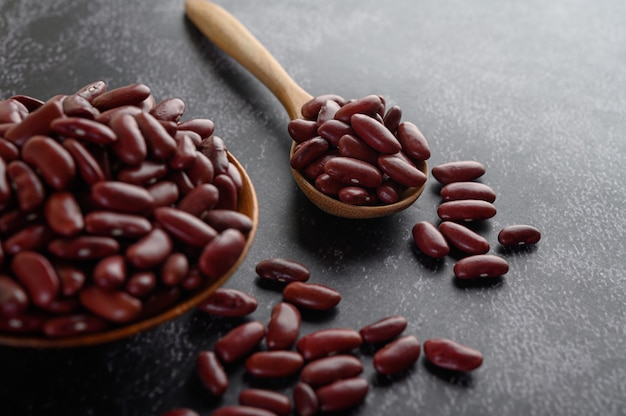
[[[141,301],[122,290],[88,286],[78,295],[81,305],[93,314],[119,324],[135,320],[141,313]]]

